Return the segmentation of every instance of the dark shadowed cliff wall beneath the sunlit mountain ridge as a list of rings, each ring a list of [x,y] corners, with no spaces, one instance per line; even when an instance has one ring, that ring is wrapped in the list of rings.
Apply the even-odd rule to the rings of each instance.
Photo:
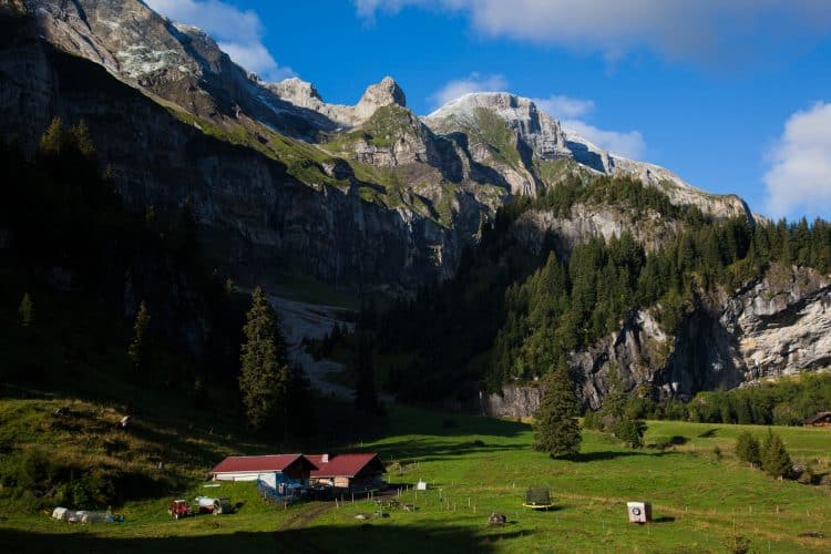
[[[445,277],[469,240],[407,207],[363,201],[349,178],[309,186],[284,163],[204,134],[102,68],[19,38],[0,51],[0,132],[31,150],[51,117],[84,120],[127,205],[173,212],[191,197],[208,254],[238,279],[271,283],[301,270],[336,286],[412,288]],[[478,225],[480,204],[459,204]]]

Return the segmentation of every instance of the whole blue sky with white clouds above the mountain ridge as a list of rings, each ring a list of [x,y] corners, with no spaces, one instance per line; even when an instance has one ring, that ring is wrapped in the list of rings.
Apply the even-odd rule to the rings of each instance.
[[[831,219],[828,0],[146,1],[327,102],[387,74],[418,114],[509,90],[755,212]]]

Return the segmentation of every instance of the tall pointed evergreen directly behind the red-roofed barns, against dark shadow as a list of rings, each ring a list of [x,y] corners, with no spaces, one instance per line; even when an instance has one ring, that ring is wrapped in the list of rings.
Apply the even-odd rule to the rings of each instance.
[[[277,316],[259,287],[252,295],[243,334],[239,391],[248,424],[263,430],[283,414],[285,435],[288,433],[286,399],[291,373],[286,346],[277,328]]]

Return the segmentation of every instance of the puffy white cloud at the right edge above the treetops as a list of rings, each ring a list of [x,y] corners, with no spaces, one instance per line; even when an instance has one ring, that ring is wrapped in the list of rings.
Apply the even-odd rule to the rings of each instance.
[[[831,103],[791,115],[768,153],[767,211],[773,217],[823,215],[831,206]],[[801,214],[800,214],[801,212]]]

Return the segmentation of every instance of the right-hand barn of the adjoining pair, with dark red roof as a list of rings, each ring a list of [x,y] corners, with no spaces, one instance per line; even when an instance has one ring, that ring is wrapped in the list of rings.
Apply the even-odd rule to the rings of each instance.
[[[378,454],[308,454],[312,464],[310,484],[329,485],[343,490],[366,490],[383,486],[386,469]]]

